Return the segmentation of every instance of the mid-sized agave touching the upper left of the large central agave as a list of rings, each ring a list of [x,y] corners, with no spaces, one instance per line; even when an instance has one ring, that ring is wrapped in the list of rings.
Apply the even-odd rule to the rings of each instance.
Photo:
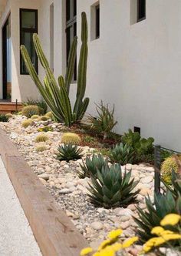
[[[102,167],[107,165],[107,160],[100,154],[94,154],[93,157],[86,157],[85,163],[81,166],[81,171],[79,172],[79,177],[90,177],[91,175],[96,176],[97,170],[102,170]]]

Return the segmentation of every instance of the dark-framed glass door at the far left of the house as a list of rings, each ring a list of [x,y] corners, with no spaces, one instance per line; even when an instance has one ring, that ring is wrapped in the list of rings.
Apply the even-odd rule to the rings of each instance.
[[[12,97],[12,41],[11,16],[8,16],[2,28],[2,70],[3,70],[3,99]]]

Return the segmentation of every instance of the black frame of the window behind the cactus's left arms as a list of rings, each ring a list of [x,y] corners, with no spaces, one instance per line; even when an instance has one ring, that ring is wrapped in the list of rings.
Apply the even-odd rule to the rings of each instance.
[[[23,28],[22,27],[22,12],[35,12],[35,29],[31,29],[31,28]],[[32,8],[20,8],[19,9],[19,31],[20,31],[20,45],[23,43],[22,42],[22,32],[28,32],[31,34],[34,33],[38,33],[38,9],[32,9]],[[38,73],[38,56],[37,54],[35,54],[35,58],[36,58],[36,62],[35,62],[35,70]],[[22,60],[23,57],[21,56],[21,52],[20,52],[20,75],[29,75],[28,72],[23,72],[22,71]]]

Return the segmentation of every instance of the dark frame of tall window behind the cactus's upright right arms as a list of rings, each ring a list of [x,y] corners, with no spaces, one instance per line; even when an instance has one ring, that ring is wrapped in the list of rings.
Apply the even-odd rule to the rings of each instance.
[[[67,1],[66,1],[66,19],[65,19],[65,33],[66,33],[66,66],[68,62],[68,56],[67,55],[67,30],[70,29],[70,42],[74,40],[74,36],[77,35],[77,1],[75,0],[68,0],[70,3],[70,12],[69,12],[69,19],[67,19]],[[71,31],[72,28],[72,31]],[[71,43],[72,43],[71,42]],[[69,53],[71,50],[71,44],[69,45]],[[75,59],[75,65],[74,65],[74,75],[73,75],[73,82],[75,83],[77,81],[77,58]]]

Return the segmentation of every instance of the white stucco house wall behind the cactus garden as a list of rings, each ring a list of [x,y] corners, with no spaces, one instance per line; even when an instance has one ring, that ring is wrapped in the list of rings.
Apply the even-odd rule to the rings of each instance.
[[[54,74],[65,72],[65,0],[11,0],[12,101],[37,98],[29,76],[19,75],[19,8],[38,8],[38,32],[50,60],[50,5],[54,2]],[[142,136],[181,151],[181,2],[146,1],[146,20],[133,23],[135,0],[100,0],[100,39],[91,40],[91,5],[97,0],[77,0],[77,55],[80,50],[81,12],[87,13],[89,56],[86,96],[94,103],[115,106],[116,131],[133,126]],[[9,5],[11,5],[9,7]],[[4,18],[3,18],[4,17]],[[2,16],[1,24],[5,19]],[[39,75],[44,73],[39,67]],[[1,75],[2,76],[2,75]],[[71,86],[74,99],[76,85]],[[1,95],[1,91],[0,91]]]

